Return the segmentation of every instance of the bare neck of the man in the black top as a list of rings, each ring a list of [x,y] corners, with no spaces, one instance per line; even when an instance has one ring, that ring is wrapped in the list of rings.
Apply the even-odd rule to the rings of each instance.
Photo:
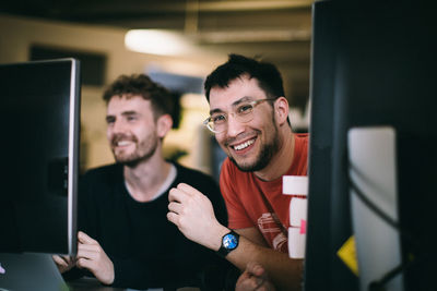
[[[155,159],[152,157],[135,167],[125,166],[123,175],[129,194],[139,202],[153,199],[165,182],[170,168],[172,165],[161,157]]]

